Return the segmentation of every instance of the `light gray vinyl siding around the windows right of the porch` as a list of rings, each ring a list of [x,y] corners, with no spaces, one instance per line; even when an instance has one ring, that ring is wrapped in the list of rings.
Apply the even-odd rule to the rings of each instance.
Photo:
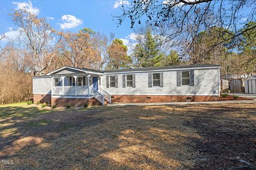
[[[135,88],[123,88],[123,86],[106,88],[106,75],[103,75],[101,87],[111,95],[219,96],[218,69],[194,70],[194,86],[177,86],[177,71],[163,71],[163,87],[150,88],[148,86],[148,73],[150,72],[135,73]],[[161,73],[161,71],[155,73]],[[118,75],[118,82],[122,84],[122,73],[111,75]]]

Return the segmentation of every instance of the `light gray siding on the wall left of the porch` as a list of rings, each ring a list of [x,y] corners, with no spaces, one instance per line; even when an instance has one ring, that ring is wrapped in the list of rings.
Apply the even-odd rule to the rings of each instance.
[[[33,78],[33,94],[51,94],[51,77]]]

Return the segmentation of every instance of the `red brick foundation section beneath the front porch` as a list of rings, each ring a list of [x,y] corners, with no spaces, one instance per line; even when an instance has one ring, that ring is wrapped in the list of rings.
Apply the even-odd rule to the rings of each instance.
[[[58,107],[71,107],[84,106],[86,103],[92,105],[101,105],[95,98],[52,98],[52,106],[57,105]]]

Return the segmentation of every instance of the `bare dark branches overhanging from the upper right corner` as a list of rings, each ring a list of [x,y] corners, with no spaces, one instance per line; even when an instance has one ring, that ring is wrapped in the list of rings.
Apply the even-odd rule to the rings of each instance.
[[[153,29],[161,30],[159,35],[165,37],[164,42],[174,40],[173,45],[181,45],[184,39],[192,43],[194,38],[187,37],[190,25],[194,26],[195,35],[211,30],[212,24],[208,22],[211,16],[214,16],[219,27],[226,28],[221,30],[222,33],[233,30],[227,32],[230,34],[229,37],[214,43],[216,46],[222,42],[235,40],[244,32],[256,28],[256,25],[250,25],[245,30],[240,29],[241,25],[248,21],[255,21],[256,0],[137,0],[130,1],[129,4],[123,5],[122,15],[116,16],[119,24],[129,18],[133,28],[145,19],[150,22]]]

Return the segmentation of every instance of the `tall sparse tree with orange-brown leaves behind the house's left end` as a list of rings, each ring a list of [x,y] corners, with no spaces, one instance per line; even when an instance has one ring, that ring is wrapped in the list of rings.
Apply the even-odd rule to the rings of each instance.
[[[56,31],[44,18],[26,10],[14,11],[13,22],[19,27],[20,44],[25,49],[25,62],[29,70],[36,74],[43,74],[44,70],[51,65],[55,55],[53,43]]]

